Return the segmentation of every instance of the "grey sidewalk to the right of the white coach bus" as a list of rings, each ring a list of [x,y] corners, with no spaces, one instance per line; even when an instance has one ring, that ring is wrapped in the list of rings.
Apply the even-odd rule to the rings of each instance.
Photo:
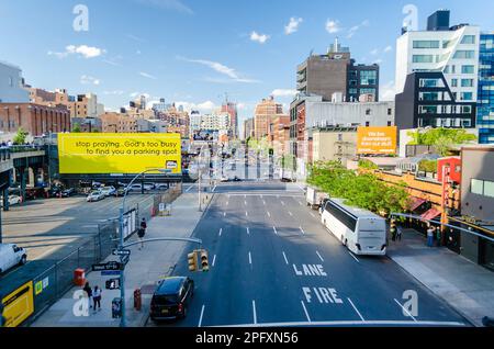
[[[414,229],[404,229],[403,240],[390,245],[389,257],[472,324],[483,326],[482,317],[494,317],[494,272],[446,247],[427,247]]]

